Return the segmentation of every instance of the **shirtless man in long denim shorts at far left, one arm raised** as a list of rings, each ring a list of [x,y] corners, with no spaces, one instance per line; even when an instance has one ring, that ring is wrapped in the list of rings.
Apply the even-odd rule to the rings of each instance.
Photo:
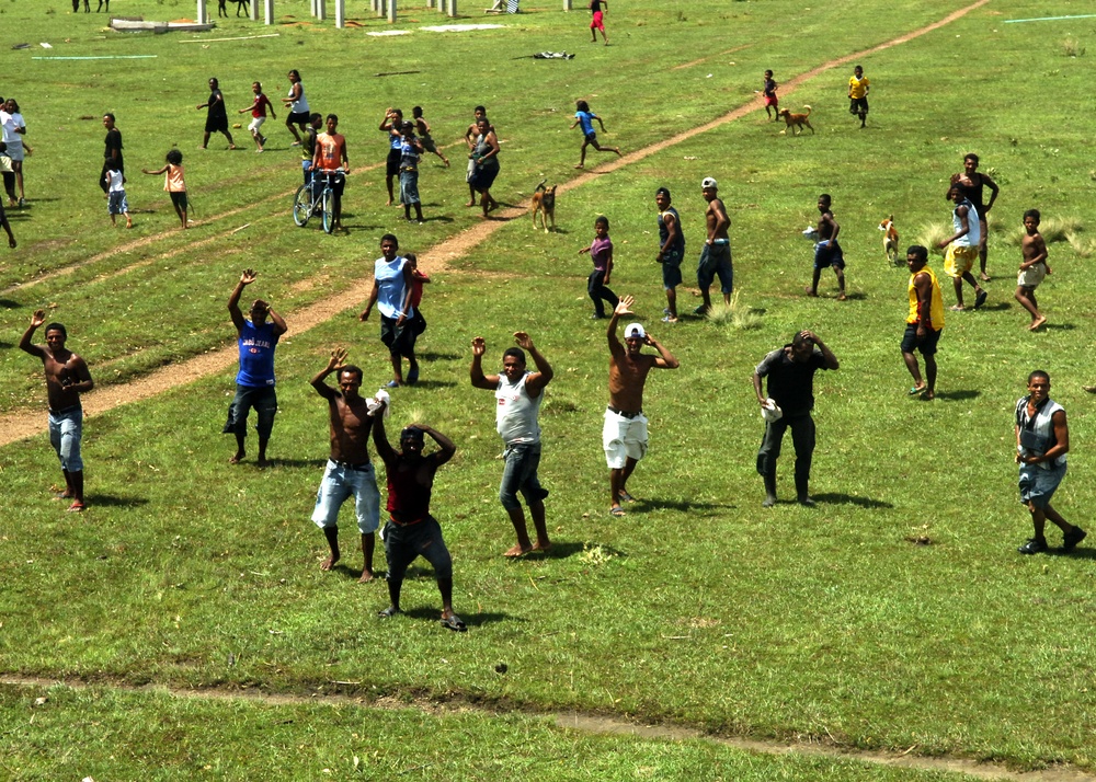
[[[80,394],[91,391],[94,383],[88,364],[65,347],[68,332],[60,323],[46,326],[46,344],[33,345],[35,330],[46,322],[44,310],[31,315],[31,325],[20,340],[22,350],[37,356],[46,372],[46,398],[49,400],[49,442],[57,451],[65,473],[64,498],[71,498],[69,510],[80,513],[83,504],[83,460],[80,437],[83,434],[83,407]]]

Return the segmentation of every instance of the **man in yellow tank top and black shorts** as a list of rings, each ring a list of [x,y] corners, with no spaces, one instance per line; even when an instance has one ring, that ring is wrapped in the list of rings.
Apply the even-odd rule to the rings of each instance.
[[[910,314],[905,319],[905,335],[902,337],[902,358],[913,376],[910,395],[936,399],[936,344],[944,331],[940,284],[928,266],[928,250],[920,244],[905,251],[905,265],[910,268]],[[921,378],[914,350],[920,350],[925,359],[925,380]]]

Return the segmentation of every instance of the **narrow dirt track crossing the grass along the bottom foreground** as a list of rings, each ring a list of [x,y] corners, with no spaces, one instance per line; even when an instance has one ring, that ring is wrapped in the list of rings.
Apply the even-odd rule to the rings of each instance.
[[[367,700],[364,698],[341,694],[309,694],[307,697],[271,694],[260,692],[258,690],[226,687],[204,688],[201,690],[180,689],[164,687],[162,685],[134,687],[116,681],[96,681],[94,683],[88,683],[81,680],[56,680],[19,676],[0,676],[0,685],[27,688],[34,690],[35,692],[42,692],[57,686],[67,687],[72,690],[110,688],[129,693],[165,692],[173,698],[180,699],[222,701],[229,703],[254,703],[267,706],[315,705],[317,703],[327,703],[330,705],[350,709],[383,709],[386,711],[407,711],[408,709],[415,709],[434,716],[461,713],[478,714],[483,717],[493,717],[505,715],[507,713],[516,713],[548,717],[555,721],[557,727],[590,735],[630,736],[655,741],[711,741],[712,744],[719,744],[724,747],[732,747],[734,749],[758,755],[798,755],[814,758],[829,758],[833,760],[853,760],[881,767],[934,771],[937,773],[963,773],[974,777],[975,779],[993,780],[995,782],[1096,782],[1096,777],[1074,768],[1053,767],[1049,769],[1040,769],[1038,771],[1012,771],[1001,763],[981,763],[967,758],[946,756],[924,757],[915,755],[917,749],[916,746],[910,747],[903,752],[861,751],[842,748],[833,744],[822,744],[817,741],[772,741],[735,736],[713,736],[711,734],[701,733],[700,731],[687,727],[673,725],[644,725],[635,722],[627,722],[625,720],[616,720],[594,714],[583,714],[581,712],[507,712],[498,709],[484,709],[481,705],[476,705],[459,699],[448,699],[445,701],[416,699],[412,702],[407,702],[403,699],[396,698]],[[332,689],[335,690],[340,687],[340,682],[330,682],[330,685]],[[363,715],[363,720],[365,718],[367,718],[367,716]]]

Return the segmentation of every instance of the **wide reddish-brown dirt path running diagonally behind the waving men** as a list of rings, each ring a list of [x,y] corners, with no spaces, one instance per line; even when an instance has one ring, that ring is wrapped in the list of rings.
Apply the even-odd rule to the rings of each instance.
[[[904,35],[901,35],[891,41],[887,41],[878,46],[872,46],[871,48],[864,49],[861,51],[856,51],[845,57],[838,57],[837,59],[824,62],[817,68],[813,68],[806,73],[800,73],[792,79],[784,82],[781,85],[783,93],[785,95],[789,94],[795,88],[799,87],[809,79],[823,73],[827,70],[834,68],[840,68],[843,65],[847,65],[854,60],[860,59],[866,55],[875,54],[877,51],[882,51],[884,49],[904,44],[909,41],[913,41],[922,35],[931,33],[935,30],[939,30],[943,26],[950,24],[970,13],[971,11],[985,5],[990,0],[978,0],[977,2],[967,5],[966,8],[955,11],[938,22],[926,25],[920,30],[912,31]],[[760,111],[758,103],[756,101],[749,101],[745,104],[734,108],[727,114],[712,119],[704,125],[698,125],[696,127],[689,128],[688,130],[681,133],[676,136],[666,138],[658,143],[653,143],[643,149],[638,149],[635,152],[629,152],[621,158],[617,158],[606,164],[597,166],[596,170],[584,171],[582,174],[575,179],[561,184],[559,191],[561,193],[567,193],[568,191],[574,189],[575,187],[581,187],[582,185],[590,182],[595,176],[601,176],[602,174],[607,174],[616,171],[617,169],[631,165],[641,160],[644,160],[652,154],[661,152],[664,149],[673,147],[686,141],[700,134],[713,130],[721,125],[741,119],[751,112]],[[376,168],[376,166],[370,166]],[[277,196],[278,198],[283,196]],[[244,207],[227,212],[227,215],[233,215],[241,211]],[[500,210],[495,212],[495,218],[493,220],[484,220],[482,223],[469,228],[460,233],[446,239],[439,244],[424,251],[420,254],[419,261],[423,265],[424,271],[427,272],[439,272],[444,271],[449,262],[467,255],[473,248],[486,241],[491,234],[502,228],[509,220],[514,219],[526,214],[527,203],[523,202],[516,207]],[[217,218],[214,218],[217,219]],[[151,238],[149,238],[151,239]],[[140,242],[146,242],[146,240],[139,240],[135,245]],[[112,251],[115,253],[117,251]],[[98,256],[96,256],[98,257]],[[87,263],[90,263],[87,262]],[[79,268],[79,266],[84,264],[78,264],[67,267],[69,272],[58,271],[53,273],[54,276],[57,274],[70,273],[71,269]],[[24,286],[27,284],[24,284]],[[318,301],[313,304],[305,307],[304,309],[296,310],[294,312],[285,313],[285,319],[293,326],[293,335],[298,336],[316,327],[320,323],[323,323],[343,310],[350,309],[357,304],[361,304],[369,295],[369,290],[373,287],[373,280],[362,281],[353,286],[349,290],[343,291],[336,296],[333,296],[323,301]],[[231,366],[237,360],[236,345],[226,345],[225,347],[210,350],[209,353],[202,354],[201,356],[195,356],[180,364],[172,364],[167,367],[157,369],[145,377],[134,380],[132,382],[119,384],[119,386],[102,386],[96,388],[89,394],[83,396],[83,409],[84,413],[89,416],[94,416],[100,413],[105,413],[106,411],[113,410],[123,404],[129,404],[130,402],[138,402],[140,400],[149,399],[158,393],[174,389],[179,386],[184,386],[186,383],[193,382],[201,378],[207,377],[215,372],[224,371],[227,367]],[[10,442],[31,437],[45,430],[45,419],[46,416],[42,411],[26,412],[18,411],[12,413],[7,413],[0,415],[0,447],[5,446]]]

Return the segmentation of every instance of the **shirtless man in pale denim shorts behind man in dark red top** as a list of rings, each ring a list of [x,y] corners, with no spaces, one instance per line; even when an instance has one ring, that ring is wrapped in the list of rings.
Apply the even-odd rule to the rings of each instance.
[[[339,391],[324,382],[331,372],[339,372]],[[369,432],[374,416],[367,401],[358,394],[362,370],[347,366],[346,350],[332,350],[328,366],[312,378],[312,388],[328,401],[331,423],[331,457],[323,471],[323,482],[316,492],[312,521],[323,530],[331,547],[331,556],[320,564],[330,571],[339,562],[339,508],[346,497],[354,495],[357,529],[362,533],[362,553],[365,565],[358,583],[373,580],[373,550],[376,547],[377,527],[380,526],[380,493],[377,479],[369,463]]]

